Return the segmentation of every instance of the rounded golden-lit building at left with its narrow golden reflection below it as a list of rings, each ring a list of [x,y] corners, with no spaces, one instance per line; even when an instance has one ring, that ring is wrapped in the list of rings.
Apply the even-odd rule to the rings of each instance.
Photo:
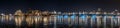
[[[24,19],[24,13],[22,13],[21,10],[17,10],[14,15],[15,15],[14,18],[15,18],[16,25],[17,26],[21,26],[22,21]]]

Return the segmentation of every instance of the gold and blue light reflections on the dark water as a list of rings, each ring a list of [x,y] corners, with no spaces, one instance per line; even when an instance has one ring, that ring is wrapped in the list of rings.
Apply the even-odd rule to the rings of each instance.
[[[71,17],[71,18],[69,18],[69,17]],[[68,21],[68,20],[66,20],[66,18],[68,18],[68,19],[70,19],[70,21]],[[92,18],[91,19],[93,19],[94,18],[94,20],[95,19],[97,19],[97,17],[95,18],[94,16],[92,16]],[[98,16],[98,18],[100,18],[99,16]],[[107,18],[111,18],[111,17],[107,17]],[[104,19],[107,19],[106,17],[104,18]],[[25,20],[24,20],[25,19]],[[52,19],[52,18],[51,18]],[[52,23],[55,23],[53,20],[51,20],[49,17],[41,17],[41,18],[39,18],[39,16],[38,17],[33,17],[33,16],[28,16],[28,17],[15,17],[14,19],[13,18],[10,18],[9,20],[7,20],[7,19],[5,19],[5,18],[2,18],[2,19],[0,19],[0,20],[3,20],[3,21],[1,21],[1,23],[10,23],[10,24],[12,24],[12,23],[14,23],[16,26],[21,26],[21,25],[23,25],[24,23],[23,23],[23,21],[26,21],[26,23],[27,23],[27,25],[28,26],[32,26],[32,25],[38,25],[39,26],[39,24],[40,23],[43,23],[44,25],[49,25],[49,23],[48,22],[52,22]],[[82,20],[82,19],[87,19],[87,16],[81,16],[81,17],[79,17],[79,18],[75,18],[75,16],[58,16],[58,18],[57,19],[60,19],[60,21],[57,21],[58,23],[57,23],[57,25],[59,24],[59,22],[61,22],[61,24],[63,23],[66,23],[65,25],[70,25],[69,23],[71,23],[72,25],[74,25],[74,24],[76,24],[76,23],[78,23],[78,25],[77,26],[80,26],[81,24],[81,26],[83,26],[84,24],[85,24],[85,21],[86,20]],[[62,20],[63,19],[63,20]],[[65,20],[64,20],[65,19]],[[74,19],[74,20],[73,20]],[[75,19],[78,19],[79,21],[77,22],[77,20],[75,20]],[[101,19],[103,19],[102,17],[101,17]],[[112,18],[111,18],[112,19]],[[117,19],[116,19],[117,20]],[[113,20],[113,21],[115,21],[115,23],[117,22],[115,19]],[[7,22],[8,21],[8,22]],[[76,21],[76,22],[74,22],[74,21]],[[104,20],[105,21],[105,20]],[[11,23],[12,22],[12,23]],[[102,22],[103,22],[103,20],[98,20],[98,21],[96,21],[97,23],[98,23],[98,25],[103,25],[103,24],[101,24]],[[92,22],[92,23],[95,23],[94,21]],[[88,24],[88,23],[87,23]],[[117,24],[117,23],[116,23]],[[43,26],[44,26],[43,25]],[[76,26],[76,25],[75,25]],[[57,26],[56,26],[57,27]]]

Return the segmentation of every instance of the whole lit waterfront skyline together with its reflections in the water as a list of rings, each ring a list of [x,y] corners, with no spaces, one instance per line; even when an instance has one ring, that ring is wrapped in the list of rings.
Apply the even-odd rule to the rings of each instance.
[[[68,26],[103,26],[104,28],[110,26],[120,25],[120,13],[118,10],[113,12],[103,12],[98,8],[98,11],[91,12],[49,12],[30,10],[27,13],[22,13],[21,10],[17,10],[15,14],[1,14],[1,22],[7,22],[15,20],[17,26],[21,26],[23,21],[26,21],[28,26],[32,25],[54,25],[65,24]],[[15,18],[15,19],[14,19]]]

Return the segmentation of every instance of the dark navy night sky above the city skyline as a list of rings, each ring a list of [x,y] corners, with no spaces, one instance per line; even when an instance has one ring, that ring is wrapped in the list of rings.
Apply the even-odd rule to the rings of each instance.
[[[33,10],[49,11],[92,11],[102,8],[112,11],[120,8],[120,0],[0,0],[0,13],[14,13],[21,9],[23,12]]]

